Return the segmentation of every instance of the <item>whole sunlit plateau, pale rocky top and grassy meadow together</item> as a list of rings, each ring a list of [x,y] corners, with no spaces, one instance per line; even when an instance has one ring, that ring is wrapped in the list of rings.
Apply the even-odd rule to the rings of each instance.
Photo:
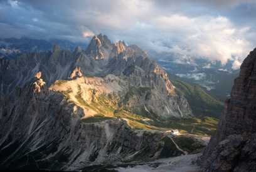
[[[65,96],[63,99],[68,103],[80,105],[85,112],[85,116],[81,119],[83,123],[122,118],[127,120],[127,123],[134,129],[158,131],[179,129],[181,133],[206,135],[211,135],[215,131],[218,124],[218,120],[215,118],[165,118],[152,110],[149,111],[146,98],[153,96],[154,90],[127,86],[129,84],[125,82],[126,80],[124,76],[107,76],[105,78],[82,76],[72,81],[57,80],[52,84],[50,90],[63,93]],[[107,86],[100,83],[107,84]],[[134,101],[133,98],[137,96],[144,97],[144,103],[130,107]]]

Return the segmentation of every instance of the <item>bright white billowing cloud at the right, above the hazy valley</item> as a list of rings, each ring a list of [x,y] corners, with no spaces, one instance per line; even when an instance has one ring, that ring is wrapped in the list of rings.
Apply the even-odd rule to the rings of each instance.
[[[169,35],[170,52],[183,52],[195,58],[208,58],[227,63],[232,56],[245,58],[246,54],[253,49],[252,42],[245,38],[249,28],[237,29],[227,18],[224,17],[206,17],[200,18],[182,18],[174,16],[169,18],[169,22],[161,24],[166,28],[160,28],[161,34],[170,28],[172,35]],[[177,20],[177,22],[175,22]],[[183,21],[183,22],[180,22]],[[168,23],[170,23],[168,25]],[[173,24],[177,23],[175,27]],[[188,47],[189,51],[183,49]],[[154,45],[151,48],[154,47]]]

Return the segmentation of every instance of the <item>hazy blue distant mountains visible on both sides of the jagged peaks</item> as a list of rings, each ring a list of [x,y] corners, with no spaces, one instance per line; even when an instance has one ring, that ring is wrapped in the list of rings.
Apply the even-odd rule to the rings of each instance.
[[[49,41],[31,38],[6,38],[0,39],[0,59],[15,59],[23,53],[52,51],[55,44],[61,49],[74,51],[79,45],[87,49],[88,43],[73,43],[65,40],[51,39]],[[232,69],[233,61],[228,60],[226,64],[220,61],[210,61],[203,58],[191,58],[182,53],[157,53],[146,49],[150,57],[156,59],[165,71],[176,74],[182,81],[199,85],[206,93],[218,101],[225,102],[230,96],[233,79],[237,78],[239,69]],[[88,53],[88,52],[87,52]]]

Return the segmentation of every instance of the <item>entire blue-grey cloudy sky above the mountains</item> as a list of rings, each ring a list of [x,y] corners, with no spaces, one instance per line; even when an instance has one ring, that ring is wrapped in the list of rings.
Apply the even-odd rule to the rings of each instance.
[[[256,47],[256,0],[1,0],[0,38],[89,41],[240,65]]]

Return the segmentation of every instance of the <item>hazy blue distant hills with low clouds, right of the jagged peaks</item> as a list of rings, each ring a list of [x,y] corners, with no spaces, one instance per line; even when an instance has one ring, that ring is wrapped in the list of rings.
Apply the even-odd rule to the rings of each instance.
[[[229,98],[233,81],[240,72],[240,69],[233,69],[231,59],[222,64],[221,61],[193,58],[183,53],[157,53],[152,50],[147,50],[147,53],[154,57],[165,71],[179,76],[182,81],[192,86],[200,86],[222,103]]]

